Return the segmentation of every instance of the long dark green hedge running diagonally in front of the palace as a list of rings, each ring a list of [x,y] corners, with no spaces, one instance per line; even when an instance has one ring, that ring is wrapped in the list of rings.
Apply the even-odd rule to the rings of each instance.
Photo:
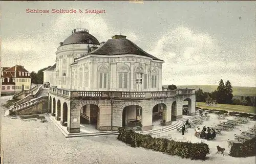
[[[209,153],[209,146],[204,143],[176,142],[166,138],[154,138],[151,135],[139,134],[122,127],[118,128],[118,131],[117,139],[131,147],[142,147],[182,158],[202,160],[205,160],[206,154]]]

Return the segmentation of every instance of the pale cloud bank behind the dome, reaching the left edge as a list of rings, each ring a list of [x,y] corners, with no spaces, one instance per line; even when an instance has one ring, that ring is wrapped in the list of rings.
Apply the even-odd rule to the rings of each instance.
[[[42,23],[40,30],[33,35],[28,32],[14,40],[2,39],[2,65],[10,66],[18,63],[25,65],[31,71],[53,65],[59,42],[69,37],[73,29],[80,27],[87,28],[99,42],[111,39],[111,36],[118,34],[119,31],[109,26],[101,15],[61,14],[50,24]],[[131,30],[125,29],[122,33],[130,40],[138,40],[138,36]],[[39,67],[38,63],[40,63]]]

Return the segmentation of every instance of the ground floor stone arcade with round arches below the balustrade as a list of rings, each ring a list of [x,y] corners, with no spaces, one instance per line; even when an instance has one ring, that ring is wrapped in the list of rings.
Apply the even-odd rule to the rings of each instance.
[[[80,132],[81,126],[99,131],[118,127],[151,130],[155,125],[166,126],[182,118],[184,100],[188,115],[195,114],[195,95],[160,100],[68,100],[49,95],[49,112],[67,127],[69,133]]]

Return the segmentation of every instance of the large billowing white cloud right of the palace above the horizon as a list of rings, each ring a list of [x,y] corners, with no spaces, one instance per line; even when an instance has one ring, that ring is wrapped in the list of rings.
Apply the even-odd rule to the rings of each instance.
[[[249,48],[253,46],[249,44]],[[246,52],[244,48],[240,50],[241,54],[233,52],[223,50],[220,41],[209,34],[187,27],[169,30],[150,51],[165,61],[163,84],[218,84],[220,78],[224,77],[230,81],[232,79],[235,85],[247,81],[247,85],[255,86],[255,65],[250,58],[253,56],[249,55],[250,60],[241,57]],[[243,80],[238,77],[243,77]]]

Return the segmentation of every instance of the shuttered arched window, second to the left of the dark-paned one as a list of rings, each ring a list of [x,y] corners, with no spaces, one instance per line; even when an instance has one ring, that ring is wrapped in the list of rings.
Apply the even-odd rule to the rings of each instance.
[[[109,75],[109,69],[106,65],[100,65],[98,67],[98,83],[99,88],[106,89],[108,86],[108,75]]]

